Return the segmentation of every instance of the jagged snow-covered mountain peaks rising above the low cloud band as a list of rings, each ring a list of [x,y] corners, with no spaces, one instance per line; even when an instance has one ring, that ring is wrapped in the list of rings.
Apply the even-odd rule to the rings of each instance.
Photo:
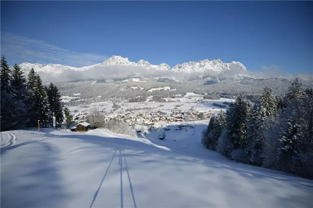
[[[61,75],[65,70],[75,70],[75,71],[86,71],[94,67],[101,67],[101,66],[132,66],[132,67],[145,67],[149,69],[155,70],[162,70],[162,71],[176,71],[176,72],[183,72],[183,73],[194,73],[194,72],[201,72],[201,73],[208,73],[208,72],[217,72],[221,73],[224,71],[247,71],[246,67],[238,62],[232,61],[231,63],[224,63],[222,60],[200,60],[200,61],[189,61],[182,64],[177,64],[174,67],[170,68],[170,66],[166,63],[161,63],[159,65],[154,65],[149,63],[146,60],[139,60],[138,62],[130,61],[127,57],[122,57],[120,55],[113,55],[103,61],[102,63],[97,63],[91,66],[84,66],[84,67],[72,67],[72,66],[65,66],[61,64],[40,64],[40,63],[21,63],[19,64],[22,70],[28,72],[31,68],[34,68],[35,71],[45,72],[52,76]]]

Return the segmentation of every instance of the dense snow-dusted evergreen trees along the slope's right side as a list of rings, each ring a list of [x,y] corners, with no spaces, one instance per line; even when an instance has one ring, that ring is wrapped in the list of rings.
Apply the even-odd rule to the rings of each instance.
[[[254,106],[239,96],[211,117],[202,144],[236,161],[313,179],[313,89],[295,79],[283,99],[269,87]]]

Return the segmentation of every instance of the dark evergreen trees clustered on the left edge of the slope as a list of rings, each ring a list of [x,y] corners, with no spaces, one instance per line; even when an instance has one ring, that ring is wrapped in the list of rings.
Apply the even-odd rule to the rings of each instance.
[[[0,60],[0,131],[22,127],[61,127],[63,103],[58,88],[50,83],[45,86],[32,68],[28,77],[14,64],[8,66],[5,57]],[[65,112],[70,117],[70,111]],[[54,119],[55,118],[55,119]]]

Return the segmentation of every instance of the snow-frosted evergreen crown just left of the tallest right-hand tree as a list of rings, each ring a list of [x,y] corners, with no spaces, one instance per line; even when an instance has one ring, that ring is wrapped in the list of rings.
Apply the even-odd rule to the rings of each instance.
[[[277,113],[277,100],[272,95],[272,89],[269,87],[263,88],[260,98],[260,106],[264,108],[267,117],[276,115]]]

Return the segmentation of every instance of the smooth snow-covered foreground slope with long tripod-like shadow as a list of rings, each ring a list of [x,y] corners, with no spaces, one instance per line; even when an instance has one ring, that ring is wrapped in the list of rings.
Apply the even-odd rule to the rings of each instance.
[[[313,181],[204,149],[205,124],[167,126],[163,141],[162,131],[2,132],[15,144],[0,148],[1,208],[312,207]]]

